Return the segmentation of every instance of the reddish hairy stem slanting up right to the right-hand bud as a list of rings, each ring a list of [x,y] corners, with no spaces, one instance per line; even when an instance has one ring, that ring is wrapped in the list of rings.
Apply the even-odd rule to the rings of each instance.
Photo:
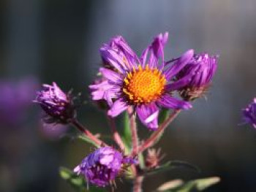
[[[146,139],[145,142],[143,142],[143,145],[140,146],[138,153],[143,152],[144,150],[148,149],[148,147],[151,147],[156,142],[157,138],[162,134],[163,131],[165,131],[165,128],[178,116],[178,114],[181,112],[181,110],[174,110],[169,117],[159,126],[157,131],[154,131],[151,136]],[[137,155],[138,153],[133,153],[132,155]]]

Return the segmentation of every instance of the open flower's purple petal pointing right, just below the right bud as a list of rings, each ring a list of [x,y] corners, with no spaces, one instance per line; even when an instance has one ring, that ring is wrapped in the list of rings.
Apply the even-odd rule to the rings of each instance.
[[[170,95],[165,94],[157,101],[159,105],[162,107],[170,108],[170,109],[183,109],[183,110],[189,110],[192,105],[187,101],[181,101],[178,100]]]

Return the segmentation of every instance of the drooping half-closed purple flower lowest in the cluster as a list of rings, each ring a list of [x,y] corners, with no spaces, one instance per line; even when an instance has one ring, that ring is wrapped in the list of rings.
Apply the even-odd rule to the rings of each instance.
[[[131,163],[133,161],[128,160],[127,157],[112,147],[101,147],[86,156],[75,167],[74,172],[82,174],[87,183],[105,187],[124,172],[125,165]]]

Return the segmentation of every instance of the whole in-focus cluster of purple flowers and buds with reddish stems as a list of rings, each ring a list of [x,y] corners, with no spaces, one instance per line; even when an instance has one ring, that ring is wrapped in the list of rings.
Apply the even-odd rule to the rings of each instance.
[[[124,174],[128,166],[135,169],[136,175],[138,170],[134,165],[138,162],[133,157],[150,147],[149,144],[154,143],[154,139],[157,139],[164,127],[167,127],[165,123],[160,129],[158,123],[160,110],[162,108],[176,112],[189,110],[192,107],[189,101],[202,96],[211,84],[217,68],[217,57],[207,53],[197,55],[194,50],[187,50],[177,59],[166,62],[164,47],[167,39],[168,33],[159,34],[140,57],[121,36],[114,37],[100,48],[103,61],[99,69],[101,77],[89,86],[92,99],[99,101],[100,104],[104,101],[104,109],[109,119],[132,109],[132,115],[129,117],[132,130],[130,140],[134,143],[131,144],[132,150],[129,156],[124,155],[125,147],[122,147],[124,145],[121,147],[119,145],[122,152],[104,145],[87,155],[74,169],[74,172],[86,178],[87,183],[100,187],[113,184],[115,178]],[[180,93],[180,96],[176,96],[175,92]],[[35,102],[39,103],[47,114],[46,123],[72,122],[92,142],[99,146],[104,143],[78,123],[75,119],[72,96],[61,91],[55,82],[53,85],[43,85],[43,90],[37,93]],[[141,147],[137,143],[135,118],[133,123],[131,118],[135,117],[134,114],[138,115],[144,126],[157,133],[144,142],[146,147]],[[117,145],[122,142],[115,128],[113,128],[113,138]],[[155,169],[161,159],[160,150],[151,149],[148,150],[143,163],[146,164],[146,169]]]

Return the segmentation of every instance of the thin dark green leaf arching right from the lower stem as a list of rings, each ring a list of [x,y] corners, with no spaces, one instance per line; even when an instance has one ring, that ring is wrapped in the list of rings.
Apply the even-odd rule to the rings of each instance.
[[[176,169],[176,168],[186,168],[186,169],[191,169],[195,172],[200,172],[197,166],[193,166],[192,164],[189,164],[187,162],[168,161],[166,164],[163,164],[162,166],[159,166],[156,169],[147,170],[146,172],[144,172],[144,174],[145,175],[158,174],[158,173],[167,172],[167,171],[170,171],[170,169]]]

